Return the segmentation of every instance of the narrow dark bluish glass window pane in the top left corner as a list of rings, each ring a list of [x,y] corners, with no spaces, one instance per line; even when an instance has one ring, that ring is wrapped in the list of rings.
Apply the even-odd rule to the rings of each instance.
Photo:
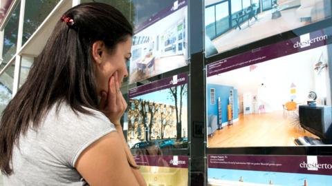
[[[19,32],[19,8],[20,3],[17,4],[3,30],[3,63],[1,65],[8,63],[10,59],[12,59],[12,57],[16,54],[17,34]]]

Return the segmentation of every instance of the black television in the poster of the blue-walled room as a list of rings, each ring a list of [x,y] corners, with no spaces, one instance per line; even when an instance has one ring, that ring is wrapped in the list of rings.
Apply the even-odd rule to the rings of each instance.
[[[323,142],[332,141],[332,107],[325,105],[299,105],[300,125],[320,137]]]

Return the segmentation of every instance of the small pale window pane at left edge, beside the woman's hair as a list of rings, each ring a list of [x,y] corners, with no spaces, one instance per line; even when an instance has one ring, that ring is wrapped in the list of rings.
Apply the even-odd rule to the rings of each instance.
[[[12,99],[12,83],[14,81],[15,63],[12,63],[3,74],[0,75],[0,113],[3,112]]]

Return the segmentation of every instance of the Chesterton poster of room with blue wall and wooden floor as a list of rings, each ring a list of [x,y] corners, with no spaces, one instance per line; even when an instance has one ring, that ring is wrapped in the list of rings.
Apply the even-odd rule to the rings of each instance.
[[[207,65],[208,147],[331,145],[332,28]]]

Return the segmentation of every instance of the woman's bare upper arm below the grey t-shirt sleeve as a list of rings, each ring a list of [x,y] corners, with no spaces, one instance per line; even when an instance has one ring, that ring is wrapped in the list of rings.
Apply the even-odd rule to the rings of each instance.
[[[111,132],[87,147],[75,164],[89,185],[140,185],[128,164],[122,138]]]

